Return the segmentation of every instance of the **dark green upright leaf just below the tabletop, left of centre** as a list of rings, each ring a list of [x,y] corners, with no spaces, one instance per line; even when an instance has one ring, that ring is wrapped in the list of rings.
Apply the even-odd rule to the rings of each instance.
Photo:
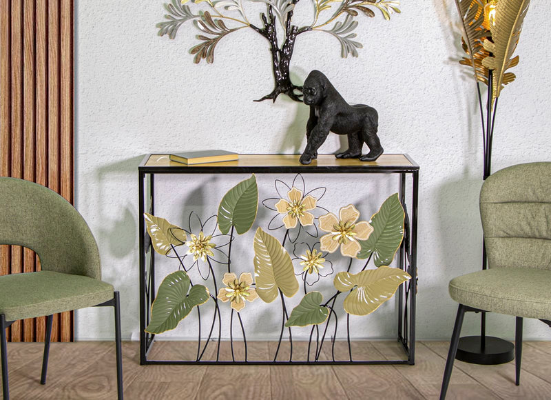
[[[233,186],[220,201],[218,207],[220,232],[227,234],[233,225],[238,234],[244,234],[253,226],[257,210],[258,186],[253,174],[249,179]]]

